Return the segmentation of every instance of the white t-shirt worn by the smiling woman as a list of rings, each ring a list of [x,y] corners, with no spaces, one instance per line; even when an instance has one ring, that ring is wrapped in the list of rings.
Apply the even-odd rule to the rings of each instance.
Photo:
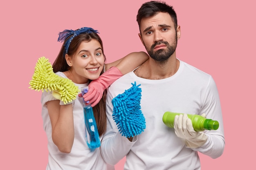
[[[57,75],[67,78],[64,73],[57,72]],[[88,86],[88,84],[75,84],[79,90]],[[74,144],[70,153],[62,153],[52,141],[52,125],[46,102],[55,100],[52,92],[43,92],[42,94],[42,117],[43,128],[48,138],[48,164],[46,170],[106,170],[107,164],[103,160],[100,148],[91,151],[88,148],[85,139],[85,120],[83,114],[83,98],[76,97],[73,104],[74,115]],[[102,136],[101,136],[102,139]],[[114,170],[114,166],[110,166]]]

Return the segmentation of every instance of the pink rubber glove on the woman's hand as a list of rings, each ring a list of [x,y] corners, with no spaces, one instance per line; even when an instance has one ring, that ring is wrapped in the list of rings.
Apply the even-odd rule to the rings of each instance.
[[[117,67],[111,67],[108,71],[100,75],[98,79],[90,82],[88,85],[88,93],[83,95],[84,101],[89,101],[87,104],[91,104],[91,106],[94,107],[101,100],[104,90],[121,76],[122,73]],[[82,94],[79,94],[79,97],[82,97]]]

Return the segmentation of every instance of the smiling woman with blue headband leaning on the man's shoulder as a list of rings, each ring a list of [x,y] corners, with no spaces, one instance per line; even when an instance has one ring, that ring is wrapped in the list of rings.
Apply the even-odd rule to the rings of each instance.
[[[120,60],[105,64],[103,44],[97,33],[97,30],[87,27],[59,33],[58,41],[64,40],[64,43],[54,61],[53,71],[72,80],[79,90],[89,85],[90,96],[97,96],[90,97],[90,103],[95,105],[92,104],[94,117],[102,139],[106,130],[105,89],[115,79],[145,62],[148,55],[144,52],[130,53]],[[41,102],[49,150],[46,169],[106,170],[107,164],[101,156],[100,147],[90,150],[86,143],[83,98],[77,96],[74,101],[64,104],[54,98],[52,92],[43,92]]]

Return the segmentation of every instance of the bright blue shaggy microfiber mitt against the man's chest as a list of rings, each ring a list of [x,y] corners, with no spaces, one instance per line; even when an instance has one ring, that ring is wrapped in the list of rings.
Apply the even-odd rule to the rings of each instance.
[[[139,135],[146,128],[145,117],[141,112],[141,88],[139,86],[140,84],[136,86],[136,82],[134,82],[131,88],[112,99],[112,117],[119,132],[125,137]]]

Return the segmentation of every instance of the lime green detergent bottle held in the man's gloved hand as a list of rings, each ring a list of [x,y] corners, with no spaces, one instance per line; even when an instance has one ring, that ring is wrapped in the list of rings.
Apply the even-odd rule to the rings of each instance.
[[[169,128],[173,128],[174,118],[180,114],[183,113],[165,112],[163,115],[164,124]],[[216,120],[206,119],[200,115],[187,115],[191,119],[195,131],[217,130],[219,128],[219,122]]]

